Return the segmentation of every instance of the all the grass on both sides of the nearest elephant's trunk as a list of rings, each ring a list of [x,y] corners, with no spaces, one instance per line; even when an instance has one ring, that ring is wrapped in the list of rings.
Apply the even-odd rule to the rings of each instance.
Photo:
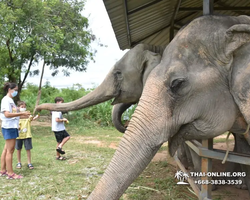
[[[67,126],[71,139],[65,145],[66,161],[55,159],[56,140],[51,127],[32,126],[33,170],[27,167],[26,151],[22,150],[22,169],[14,152],[14,171],[21,180],[0,177],[0,199],[87,199],[110,162],[122,134],[112,127]],[[4,140],[0,136],[0,148]],[[165,151],[162,147],[160,151]],[[176,169],[167,161],[151,162],[128,188],[121,200],[196,199],[186,187],[176,184]]]

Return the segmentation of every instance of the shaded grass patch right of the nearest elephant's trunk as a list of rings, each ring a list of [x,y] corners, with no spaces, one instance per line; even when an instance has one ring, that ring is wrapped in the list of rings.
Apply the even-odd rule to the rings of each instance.
[[[166,161],[151,162],[144,172],[128,188],[129,200],[196,200],[187,186],[176,184],[176,168]]]

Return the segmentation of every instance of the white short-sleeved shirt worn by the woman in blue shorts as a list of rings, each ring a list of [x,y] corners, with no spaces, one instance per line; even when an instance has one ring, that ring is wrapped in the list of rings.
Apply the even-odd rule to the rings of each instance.
[[[4,111],[9,111],[10,113],[17,113],[17,107],[14,103],[13,99],[5,96],[1,101],[1,113],[0,118],[2,120],[2,128],[18,128],[19,126],[19,118],[20,117],[12,117],[7,118],[4,115]]]

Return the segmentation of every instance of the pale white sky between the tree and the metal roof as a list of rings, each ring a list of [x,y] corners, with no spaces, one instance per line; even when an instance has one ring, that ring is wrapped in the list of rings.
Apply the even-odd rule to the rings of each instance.
[[[58,88],[71,87],[77,83],[84,88],[97,86],[104,80],[115,62],[126,53],[126,50],[122,51],[118,46],[103,0],[87,0],[83,15],[89,19],[89,28],[93,34],[107,47],[92,44],[92,48],[97,50],[95,63],[90,62],[86,72],[71,71],[70,77],[65,77],[62,73],[52,77],[51,71],[47,70],[44,73],[43,84],[49,81],[51,86]],[[41,68],[41,63],[38,68]],[[36,85],[39,84],[39,80],[40,76],[27,78],[27,82]]]

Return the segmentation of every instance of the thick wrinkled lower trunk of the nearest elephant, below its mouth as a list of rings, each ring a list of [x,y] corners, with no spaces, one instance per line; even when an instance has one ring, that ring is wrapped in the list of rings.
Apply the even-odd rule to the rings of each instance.
[[[118,200],[161,147],[157,134],[149,136],[148,127],[143,126],[139,115],[140,112],[133,115],[114,157],[88,200]],[[151,129],[150,133],[157,131]]]

